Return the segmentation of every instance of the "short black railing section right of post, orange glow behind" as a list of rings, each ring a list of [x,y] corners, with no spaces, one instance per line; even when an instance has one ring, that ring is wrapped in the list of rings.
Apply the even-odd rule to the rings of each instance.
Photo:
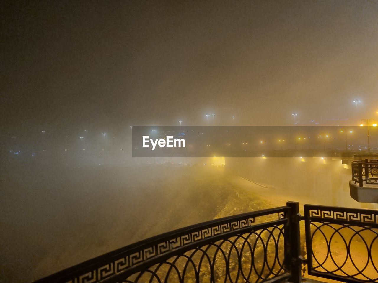
[[[378,211],[304,206],[308,274],[378,282]]]

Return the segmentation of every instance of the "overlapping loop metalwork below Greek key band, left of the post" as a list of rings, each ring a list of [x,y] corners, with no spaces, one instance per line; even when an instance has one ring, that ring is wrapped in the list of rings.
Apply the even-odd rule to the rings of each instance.
[[[285,274],[284,225],[271,225],[174,255],[128,275],[123,283],[264,282]]]

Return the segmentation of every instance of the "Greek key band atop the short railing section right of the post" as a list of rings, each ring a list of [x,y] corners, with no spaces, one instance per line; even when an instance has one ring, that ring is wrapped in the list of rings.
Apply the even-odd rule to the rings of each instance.
[[[371,213],[362,212],[346,212],[346,211],[332,211],[323,209],[310,209],[310,217],[319,217],[324,219],[358,221],[366,223],[378,223],[378,212]]]

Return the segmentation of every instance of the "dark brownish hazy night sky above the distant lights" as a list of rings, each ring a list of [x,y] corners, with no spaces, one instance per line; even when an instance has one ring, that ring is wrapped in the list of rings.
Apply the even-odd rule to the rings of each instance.
[[[3,129],[378,118],[377,1],[9,3]]]

